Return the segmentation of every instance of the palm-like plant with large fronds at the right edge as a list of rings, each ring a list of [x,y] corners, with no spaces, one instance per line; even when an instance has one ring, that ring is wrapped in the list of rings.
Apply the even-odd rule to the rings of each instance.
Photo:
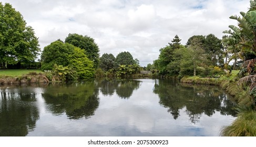
[[[256,64],[255,51],[256,51],[256,1],[250,1],[251,5],[247,13],[240,12],[240,16],[231,16],[231,19],[238,21],[238,27],[230,25],[229,28],[232,31],[224,31],[230,36],[226,36],[223,39],[223,43],[231,51],[239,49],[240,59],[243,60],[241,65],[242,69],[239,72],[240,80],[239,84],[245,84],[250,86],[249,92],[254,97],[256,96],[256,79],[254,68]],[[236,44],[230,44],[230,40],[235,40]],[[256,109],[256,107],[255,107]]]

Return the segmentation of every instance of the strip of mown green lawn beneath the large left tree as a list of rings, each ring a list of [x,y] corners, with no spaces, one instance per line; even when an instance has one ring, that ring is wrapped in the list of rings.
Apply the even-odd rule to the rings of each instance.
[[[28,74],[29,72],[43,72],[40,69],[0,69],[0,77],[9,76],[16,77]]]

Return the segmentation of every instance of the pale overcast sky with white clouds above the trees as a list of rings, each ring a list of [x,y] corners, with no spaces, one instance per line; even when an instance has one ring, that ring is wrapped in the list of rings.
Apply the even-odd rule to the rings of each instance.
[[[43,50],[69,33],[95,39],[104,53],[129,51],[141,66],[152,64],[159,49],[178,35],[185,45],[193,35],[220,38],[231,15],[250,7],[249,0],[0,0],[11,4],[32,26]]]

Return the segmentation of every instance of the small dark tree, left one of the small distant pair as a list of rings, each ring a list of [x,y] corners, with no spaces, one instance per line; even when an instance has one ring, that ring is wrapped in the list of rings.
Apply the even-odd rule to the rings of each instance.
[[[115,56],[112,54],[103,54],[99,59],[99,68],[103,71],[108,71],[109,69],[114,68],[115,59]]]

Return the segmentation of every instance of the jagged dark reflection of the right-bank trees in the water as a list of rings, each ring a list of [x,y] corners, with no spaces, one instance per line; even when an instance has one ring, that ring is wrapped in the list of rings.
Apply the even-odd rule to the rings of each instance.
[[[216,111],[220,111],[222,115],[235,116],[236,114],[232,109],[235,103],[216,86],[179,84],[177,80],[159,80],[155,83],[153,92],[158,94],[159,103],[168,108],[173,119],[180,116],[182,108],[186,108],[192,123],[199,122],[203,113],[207,116],[212,116]]]

